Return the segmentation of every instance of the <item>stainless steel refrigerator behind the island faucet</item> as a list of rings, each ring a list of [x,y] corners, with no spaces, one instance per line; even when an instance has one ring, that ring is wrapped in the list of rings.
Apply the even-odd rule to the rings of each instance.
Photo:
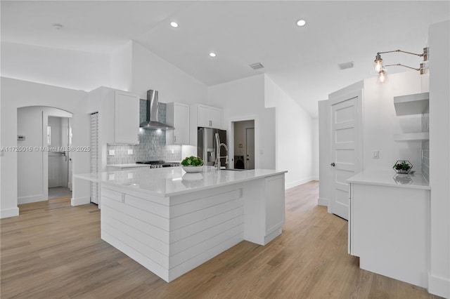
[[[214,135],[216,133],[219,133],[219,143],[225,143],[226,144],[226,131],[225,130],[219,130],[218,128],[198,128],[197,131],[197,140],[198,140],[198,147],[197,147],[197,155],[198,157],[203,159],[203,164],[208,166],[214,166],[214,162],[216,161],[216,144],[214,142]],[[221,147],[220,149],[220,157],[226,156],[226,150],[225,147]],[[226,166],[228,168],[228,165],[225,164],[226,159],[221,158],[220,164],[221,166]]]

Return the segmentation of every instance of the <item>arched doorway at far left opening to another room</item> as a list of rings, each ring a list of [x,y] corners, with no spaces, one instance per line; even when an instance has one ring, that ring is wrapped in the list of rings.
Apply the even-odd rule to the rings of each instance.
[[[49,179],[70,192],[71,119],[72,113],[54,107],[17,109],[17,146],[23,149],[17,159],[18,204],[49,199]]]

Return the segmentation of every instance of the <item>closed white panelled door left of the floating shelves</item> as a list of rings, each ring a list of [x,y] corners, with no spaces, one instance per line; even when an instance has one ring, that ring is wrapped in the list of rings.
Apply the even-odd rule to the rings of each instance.
[[[330,212],[348,220],[347,179],[362,171],[362,91],[330,99],[332,192]]]

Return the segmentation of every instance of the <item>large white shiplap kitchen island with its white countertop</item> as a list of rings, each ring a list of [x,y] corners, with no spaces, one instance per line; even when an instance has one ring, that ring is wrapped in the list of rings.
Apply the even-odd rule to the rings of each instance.
[[[101,184],[101,239],[172,281],[240,241],[265,245],[281,234],[285,172],[205,166],[74,177]]]

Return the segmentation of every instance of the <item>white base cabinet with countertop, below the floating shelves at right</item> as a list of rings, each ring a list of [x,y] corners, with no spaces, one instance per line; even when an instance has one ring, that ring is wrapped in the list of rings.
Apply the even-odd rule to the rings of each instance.
[[[349,178],[349,253],[364,270],[428,286],[430,187],[392,171]]]

